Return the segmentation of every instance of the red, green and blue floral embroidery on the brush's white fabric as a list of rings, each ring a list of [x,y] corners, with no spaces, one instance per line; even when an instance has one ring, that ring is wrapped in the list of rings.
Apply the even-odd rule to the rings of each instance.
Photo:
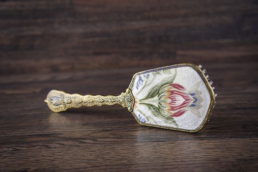
[[[201,117],[199,110],[201,109],[201,91],[198,90],[200,82],[190,89],[174,83],[177,74],[177,69],[173,73],[168,73],[169,70],[153,72],[153,76],[169,74],[167,78],[160,81],[158,85],[153,86],[147,92],[146,96],[140,100],[136,100],[135,107],[139,105],[145,106],[152,115],[162,119],[164,123],[178,126],[174,118],[186,114],[191,111],[193,114]],[[145,76],[142,75],[144,78]],[[145,78],[146,80],[146,78]],[[148,84],[148,83],[147,83]],[[141,89],[143,86],[143,78],[139,76],[136,88]],[[158,102],[158,103],[157,103]],[[145,119],[138,115],[140,121]],[[142,121],[143,122],[143,121]]]

